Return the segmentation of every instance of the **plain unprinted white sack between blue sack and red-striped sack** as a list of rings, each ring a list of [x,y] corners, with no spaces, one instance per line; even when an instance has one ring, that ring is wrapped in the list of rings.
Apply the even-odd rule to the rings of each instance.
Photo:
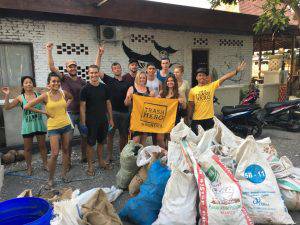
[[[188,170],[173,168],[157,220],[152,225],[195,225],[197,184]]]

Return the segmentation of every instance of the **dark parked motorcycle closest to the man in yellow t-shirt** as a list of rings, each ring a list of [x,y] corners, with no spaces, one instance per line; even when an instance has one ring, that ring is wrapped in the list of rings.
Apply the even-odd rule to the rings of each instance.
[[[214,102],[219,104],[215,97]],[[256,118],[257,105],[223,106],[223,115],[219,119],[235,134],[241,137],[253,135],[255,138],[262,133],[262,123]]]

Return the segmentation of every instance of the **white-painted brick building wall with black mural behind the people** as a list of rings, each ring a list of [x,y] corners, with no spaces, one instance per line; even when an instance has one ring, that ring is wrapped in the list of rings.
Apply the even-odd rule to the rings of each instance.
[[[45,87],[49,73],[45,49],[47,42],[54,43],[53,58],[55,65],[62,72],[65,61],[73,59],[78,63],[78,76],[89,79],[87,68],[95,61],[98,45],[103,43],[101,27],[106,27],[107,23],[78,20],[65,22],[63,19],[53,21],[51,15],[47,18],[12,15],[0,18],[0,86],[16,87],[20,85],[21,76],[33,75],[37,86]],[[210,26],[214,27],[213,24]],[[118,22],[109,24],[109,27],[115,30],[115,39],[104,43],[105,53],[101,64],[101,70],[109,75],[113,62],[119,62],[123,73],[126,73],[128,59],[133,53],[147,55],[147,60],[139,60],[140,69],[145,69],[147,61],[159,62],[164,56],[170,58],[173,67],[176,64],[184,65],[184,79],[188,80],[191,86],[195,84],[194,71],[199,67],[206,67],[213,79],[217,79],[234,70],[241,60],[245,60],[248,65],[252,63],[251,33],[174,27],[169,29],[153,24],[141,26]],[[218,91],[217,94],[223,96],[223,105],[239,102],[239,90],[248,84],[250,74],[251,66],[248,66]],[[22,143],[18,132],[21,126],[20,113],[21,109],[3,112],[2,139],[5,138],[6,146]]]

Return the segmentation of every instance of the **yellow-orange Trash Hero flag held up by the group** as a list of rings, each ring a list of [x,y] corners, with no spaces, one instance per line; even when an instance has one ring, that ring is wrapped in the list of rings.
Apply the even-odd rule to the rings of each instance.
[[[130,130],[170,133],[175,125],[178,99],[133,95]]]

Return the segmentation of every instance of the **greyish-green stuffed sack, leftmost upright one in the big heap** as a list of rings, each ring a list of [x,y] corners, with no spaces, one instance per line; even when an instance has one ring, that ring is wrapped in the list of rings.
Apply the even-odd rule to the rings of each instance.
[[[139,167],[136,165],[138,151],[143,146],[133,141],[129,141],[123,148],[120,155],[120,170],[116,175],[117,186],[122,189],[127,189],[128,184],[134,175],[138,172]]]

